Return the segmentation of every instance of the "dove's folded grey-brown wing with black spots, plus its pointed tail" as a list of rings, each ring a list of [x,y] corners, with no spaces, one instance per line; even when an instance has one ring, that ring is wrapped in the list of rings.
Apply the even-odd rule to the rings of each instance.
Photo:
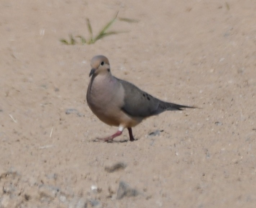
[[[182,110],[182,108],[194,108],[185,105],[178,105],[174,103],[167,103],[153,96],[147,92],[140,90],[138,87],[130,82],[117,79],[125,90],[124,105],[122,110],[134,117],[148,117],[166,110]]]

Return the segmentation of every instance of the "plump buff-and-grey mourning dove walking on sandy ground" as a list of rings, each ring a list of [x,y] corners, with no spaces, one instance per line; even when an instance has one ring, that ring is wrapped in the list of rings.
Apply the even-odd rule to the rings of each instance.
[[[91,59],[91,67],[87,103],[101,121],[119,127],[115,134],[100,140],[112,141],[122,134],[124,128],[127,128],[130,141],[134,141],[131,128],[143,119],[166,110],[194,108],[159,100],[132,83],[112,76],[109,61],[105,56],[94,56]]]

